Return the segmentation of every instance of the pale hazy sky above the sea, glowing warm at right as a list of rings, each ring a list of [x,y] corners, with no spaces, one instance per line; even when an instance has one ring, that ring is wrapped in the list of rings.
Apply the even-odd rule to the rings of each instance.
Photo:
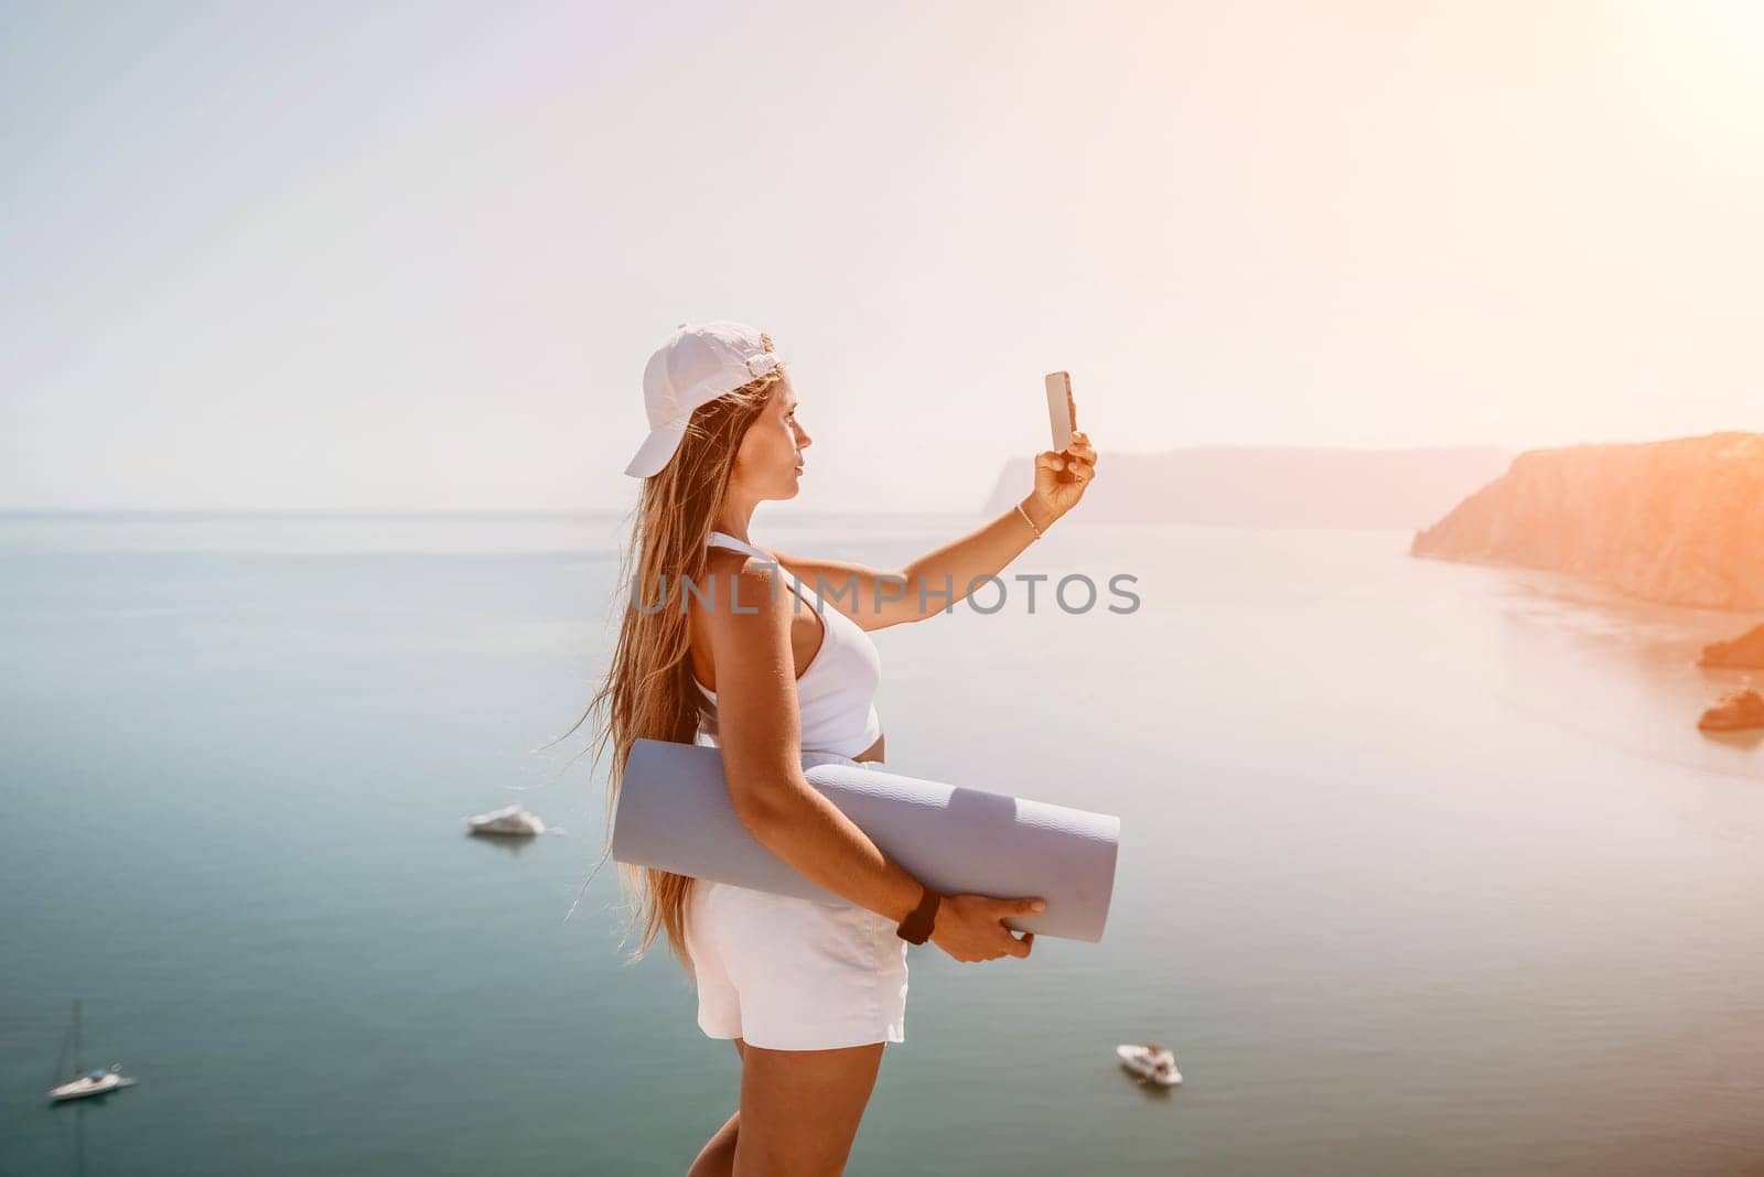
[[[1764,4],[0,7],[0,506],[624,509],[683,319],[813,509],[1764,428]],[[1025,488],[1027,490],[1027,488]]]

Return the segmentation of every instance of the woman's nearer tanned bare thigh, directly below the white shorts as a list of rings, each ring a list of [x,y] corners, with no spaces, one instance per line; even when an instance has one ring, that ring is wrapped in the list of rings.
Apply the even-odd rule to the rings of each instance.
[[[734,1177],[838,1177],[870,1103],[882,1048],[741,1052]]]

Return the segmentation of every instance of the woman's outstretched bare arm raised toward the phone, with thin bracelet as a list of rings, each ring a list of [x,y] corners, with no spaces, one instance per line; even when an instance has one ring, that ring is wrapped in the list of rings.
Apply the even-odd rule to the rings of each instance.
[[[1018,506],[979,530],[921,555],[900,571],[799,559],[781,551],[774,555],[780,564],[822,594],[827,604],[863,629],[919,622],[947,613],[958,601],[967,601],[977,587],[975,581],[998,574],[1035,541],[1037,529],[1046,532],[1076,507],[1095,481],[1095,465],[1097,455],[1090,448],[1090,437],[1074,430],[1071,448],[1044,449],[1035,455],[1035,485]],[[1073,479],[1060,481],[1060,472],[1067,469]]]

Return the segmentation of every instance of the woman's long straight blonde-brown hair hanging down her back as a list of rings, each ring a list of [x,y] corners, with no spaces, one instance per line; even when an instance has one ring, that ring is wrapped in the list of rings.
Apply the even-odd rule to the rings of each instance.
[[[760,333],[760,342],[766,351],[773,351],[771,337]],[[612,745],[602,863],[612,849],[612,814],[619,803],[619,784],[632,745],[639,738],[697,742],[706,700],[691,677],[691,638],[683,580],[690,578],[700,587],[707,583],[706,541],[729,488],[736,449],[783,379],[785,370],[778,366],[700,405],[691,414],[672,460],[660,474],[644,479],[633,513],[635,523],[619,559],[616,599],[624,613],[619,641],[600,689],[570,728],[575,731],[582,721],[598,715],[598,735],[589,745],[594,752],[591,763],[598,765],[607,745]],[[637,608],[639,604],[642,608]],[[693,974],[684,934],[691,876],[623,862],[616,863],[616,869],[621,890],[635,900],[632,904],[635,918],[626,923],[624,939],[630,939],[639,922],[642,925],[642,941],[626,964],[640,960],[656,936],[667,932],[669,950],[686,973]]]

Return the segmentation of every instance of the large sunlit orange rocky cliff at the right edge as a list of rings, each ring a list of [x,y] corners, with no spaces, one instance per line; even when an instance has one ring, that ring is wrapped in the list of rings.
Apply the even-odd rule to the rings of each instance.
[[[1531,449],[1409,555],[1572,573],[1648,601],[1764,610],[1764,433]]]

